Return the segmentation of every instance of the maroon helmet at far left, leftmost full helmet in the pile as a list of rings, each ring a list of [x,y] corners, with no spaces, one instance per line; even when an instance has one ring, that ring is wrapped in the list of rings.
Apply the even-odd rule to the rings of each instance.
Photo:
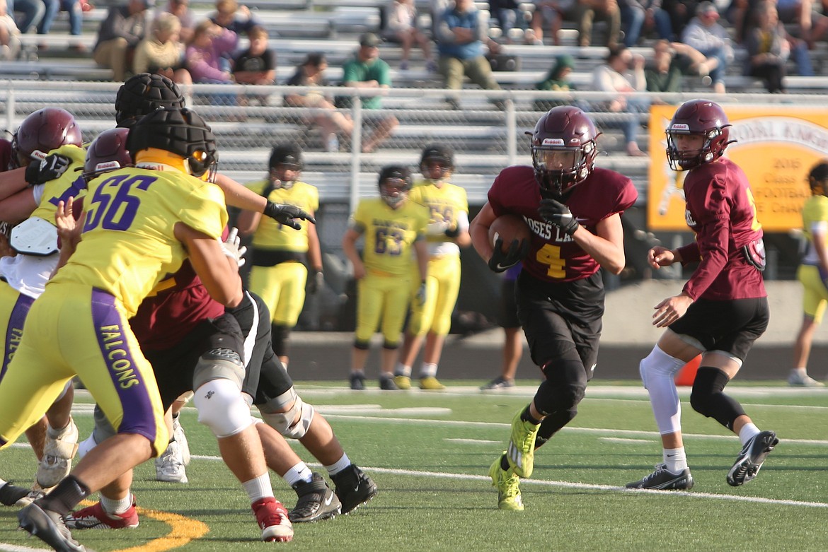
[[[31,159],[44,159],[61,145],[83,144],[80,128],[70,112],[60,107],[46,107],[23,120],[12,138],[12,163],[29,164]]]

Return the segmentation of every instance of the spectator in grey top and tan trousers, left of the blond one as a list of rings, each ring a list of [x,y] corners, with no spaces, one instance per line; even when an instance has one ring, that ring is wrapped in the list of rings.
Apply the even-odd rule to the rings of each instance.
[[[147,9],[154,0],[129,0],[126,6],[109,8],[98,30],[92,57],[101,67],[113,70],[113,78],[123,81],[138,42],[147,31]]]

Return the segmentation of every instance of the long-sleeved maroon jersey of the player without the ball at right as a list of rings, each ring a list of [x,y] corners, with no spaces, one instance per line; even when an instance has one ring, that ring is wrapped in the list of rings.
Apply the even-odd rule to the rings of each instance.
[[[713,301],[766,297],[762,273],[742,253],[744,245],[763,236],[744,171],[724,157],[701,164],[687,173],[684,197],[696,241],[679,253],[685,263],[700,260],[685,293]]]

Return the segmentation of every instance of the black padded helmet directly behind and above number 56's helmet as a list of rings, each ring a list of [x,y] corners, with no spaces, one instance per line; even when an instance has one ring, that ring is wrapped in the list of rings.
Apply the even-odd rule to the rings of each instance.
[[[176,83],[160,74],[134,75],[115,95],[115,122],[130,127],[159,107],[184,107],[184,94]]]

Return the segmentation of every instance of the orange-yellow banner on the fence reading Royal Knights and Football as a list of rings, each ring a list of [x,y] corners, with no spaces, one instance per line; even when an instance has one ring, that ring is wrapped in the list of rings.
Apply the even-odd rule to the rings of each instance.
[[[802,204],[811,196],[811,167],[828,157],[828,110],[806,107],[723,105],[730,122],[724,155],[748,175],[764,231],[802,227]],[[649,230],[687,230],[684,177],[667,163],[664,131],[677,106],[650,108],[650,174],[647,188]]]

